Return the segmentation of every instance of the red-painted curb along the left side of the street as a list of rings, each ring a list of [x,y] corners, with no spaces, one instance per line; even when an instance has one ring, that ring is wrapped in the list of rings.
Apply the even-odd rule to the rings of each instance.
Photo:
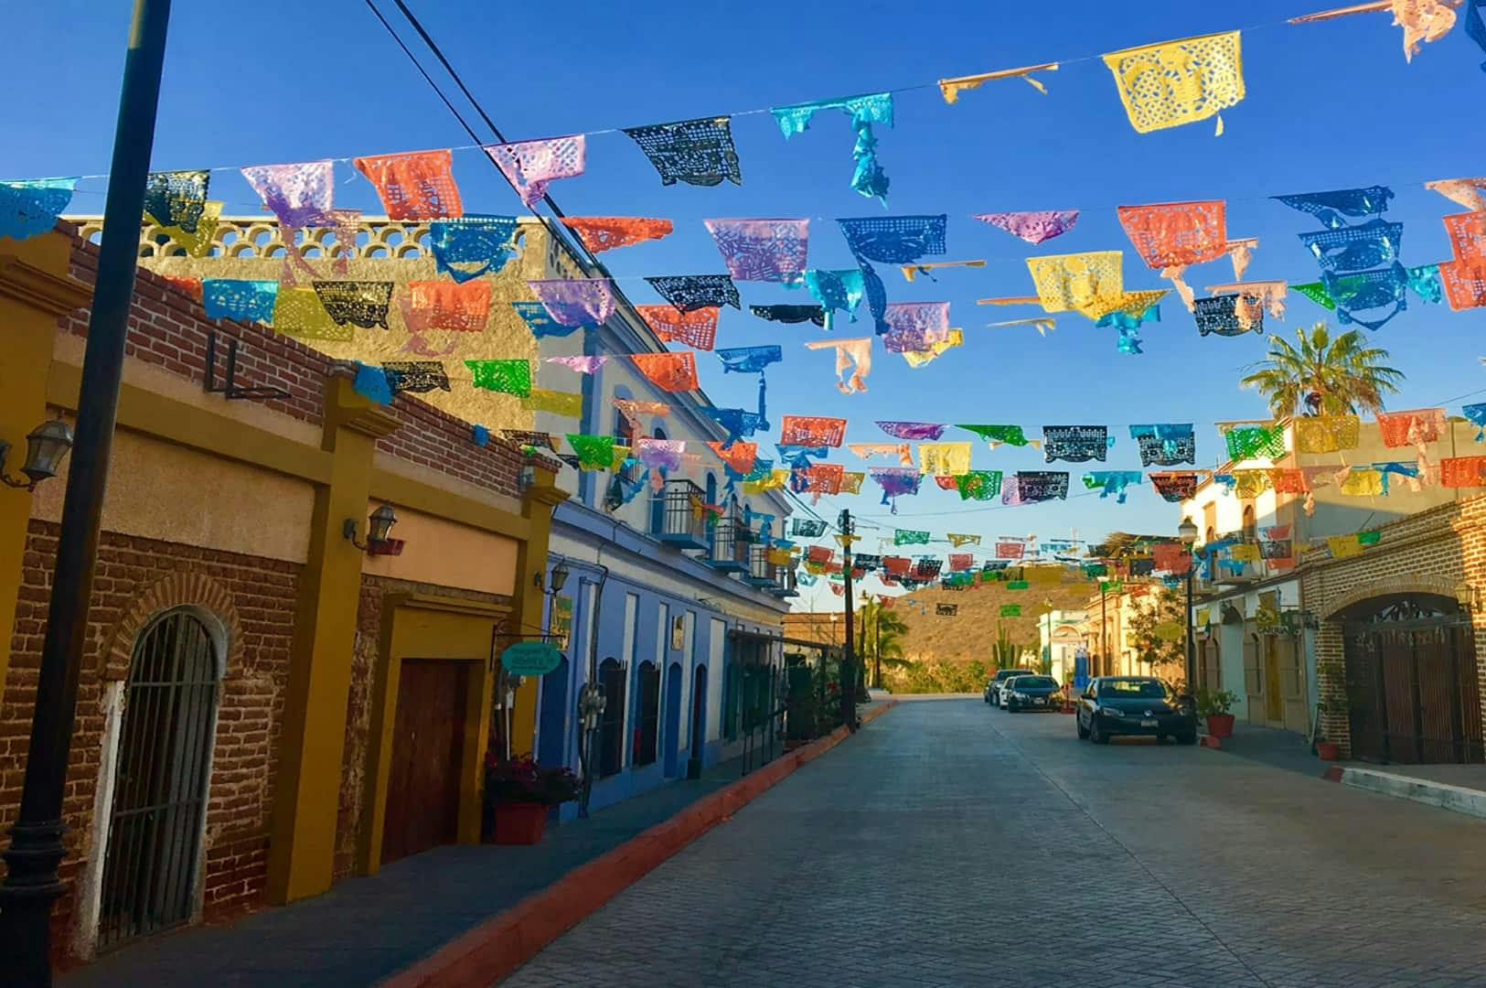
[[[883,716],[896,703],[889,700],[868,710],[862,724]],[[667,857],[849,735],[847,728],[837,728],[703,796],[669,820],[580,865],[547,888],[444,943],[431,957],[382,981],[380,988],[484,988],[501,981]]]

